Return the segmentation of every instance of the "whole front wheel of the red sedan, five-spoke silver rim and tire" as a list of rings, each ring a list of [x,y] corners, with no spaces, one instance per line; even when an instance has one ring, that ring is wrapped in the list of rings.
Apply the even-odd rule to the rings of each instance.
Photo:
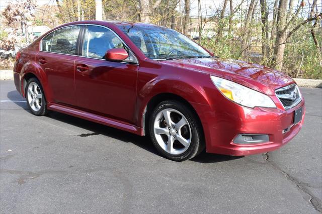
[[[204,149],[196,114],[178,101],[160,102],[150,117],[149,133],[155,148],[166,158],[184,161]]]

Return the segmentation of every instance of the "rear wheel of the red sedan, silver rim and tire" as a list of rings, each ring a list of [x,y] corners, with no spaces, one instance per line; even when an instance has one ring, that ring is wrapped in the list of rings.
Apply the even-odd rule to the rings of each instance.
[[[27,105],[32,114],[43,116],[47,114],[46,99],[38,79],[30,78],[26,86]]]

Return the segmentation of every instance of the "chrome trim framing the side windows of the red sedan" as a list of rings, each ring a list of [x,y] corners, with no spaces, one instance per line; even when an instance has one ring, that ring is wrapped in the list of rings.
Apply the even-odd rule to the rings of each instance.
[[[129,49],[129,51],[131,51],[131,53],[133,54],[135,60],[136,60],[136,63],[133,62],[119,62],[119,63],[124,63],[124,64],[134,64],[134,65],[139,65],[139,61],[137,60],[137,57],[136,55],[134,54],[134,52],[129,48],[129,46],[121,39],[121,37],[119,35],[117,35],[117,33],[115,33],[112,29],[106,27],[106,26],[103,26],[103,25],[97,25],[97,24],[74,24],[74,25],[67,25],[67,26],[62,26],[60,28],[57,28],[56,30],[54,31],[51,31],[49,33],[47,33],[45,36],[43,36],[43,38],[41,39],[40,41],[40,50],[39,52],[46,52],[46,53],[53,53],[53,54],[62,54],[62,55],[68,55],[68,56],[78,56],[78,57],[85,57],[85,58],[90,58],[90,59],[97,59],[97,60],[104,60],[104,61],[107,61],[105,59],[98,59],[98,58],[93,58],[93,57],[87,57],[87,56],[80,56],[80,55],[76,55],[76,54],[64,54],[64,53],[56,53],[56,52],[51,52],[51,51],[43,51],[42,50],[42,40],[49,34],[51,34],[52,32],[54,32],[54,35],[55,35],[55,32],[59,29],[62,29],[62,28],[66,28],[66,27],[70,27],[70,26],[88,26],[88,25],[92,25],[92,26],[98,26],[98,27],[103,27],[103,28],[106,28],[108,29],[109,31],[111,31],[114,35],[116,35],[116,37]],[[54,36],[53,35],[53,36]],[[54,38],[54,37],[53,37]],[[52,38],[52,39],[53,39]],[[83,38],[83,43],[84,43],[84,38]],[[51,47],[50,47],[50,50],[51,50]],[[82,50],[82,54],[83,54],[83,50]],[[111,61],[108,61],[108,62],[111,62]]]

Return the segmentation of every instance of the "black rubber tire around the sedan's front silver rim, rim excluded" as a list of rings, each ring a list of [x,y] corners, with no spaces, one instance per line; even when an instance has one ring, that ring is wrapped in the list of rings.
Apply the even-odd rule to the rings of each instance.
[[[154,136],[154,121],[157,114],[165,109],[174,109],[179,111],[188,121],[191,128],[191,142],[188,149],[182,154],[170,154],[165,151],[158,143]],[[201,123],[198,119],[198,116],[195,112],[193,112],[190,106],[186,106],[186,104],[176,101],[176,100],[166,100],[160,102],[153,110],[152,114],[149,117],[149,135],[152,140],[154,147],[157,151],[164,156],[173,161],[185,161],[189,160],[195,156],[197,156],[200,152],[202,152],[205,148],[204,137]]]

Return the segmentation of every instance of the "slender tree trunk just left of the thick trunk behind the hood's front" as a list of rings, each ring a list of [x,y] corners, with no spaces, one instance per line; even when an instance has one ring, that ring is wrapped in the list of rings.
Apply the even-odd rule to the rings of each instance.
[[[261,4],[261,21],[262,21],[262,56],[264,59],[269,57],[268,44],[268,11],[266,0],[260,0]]]

